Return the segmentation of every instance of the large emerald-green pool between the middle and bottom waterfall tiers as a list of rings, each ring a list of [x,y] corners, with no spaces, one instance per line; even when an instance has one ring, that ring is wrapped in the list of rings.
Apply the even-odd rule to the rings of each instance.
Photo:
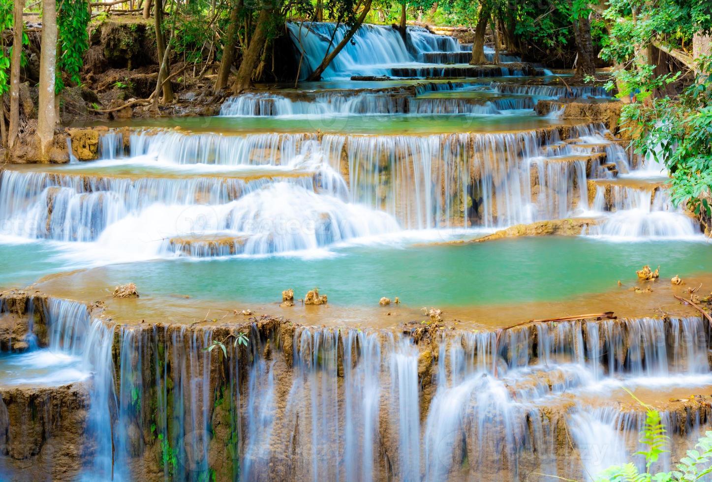
[[[636,279],[644,264],[661,277],[712,270],[704,242],[611,243],[577,238],[523,238],[406,248],[362,246],[331,258],[226,258],[131,263],[103,268],[110,283],[141,293],[269,303],[286,288],[317,286],[335,305],[373,304],[399,296],[408,305],[472,306],[563,300]]]

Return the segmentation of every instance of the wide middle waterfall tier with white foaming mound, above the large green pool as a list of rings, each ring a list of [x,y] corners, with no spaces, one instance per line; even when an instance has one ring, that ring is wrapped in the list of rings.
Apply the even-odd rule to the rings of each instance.
[[[136,258],[308,250],[400,228],[508,226],[587,209],[585,173],[596,161],[560,132],[603,140],[600,125],[425,136],[138,131],[127,161],[162,170],[6,171],[0,212],[6,234],[91,241]]]

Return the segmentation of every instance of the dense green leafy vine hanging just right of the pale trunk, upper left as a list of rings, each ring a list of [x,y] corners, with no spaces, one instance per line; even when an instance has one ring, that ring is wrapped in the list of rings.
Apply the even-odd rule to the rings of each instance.
[[[57,62],[55,93],[64,88],[62,73],[70,82],[79,85],[79,73],[83,66],[84,53],[89,48],[89,6],[86,0],[61,0],[57,14],[57,30],[60,56]]]

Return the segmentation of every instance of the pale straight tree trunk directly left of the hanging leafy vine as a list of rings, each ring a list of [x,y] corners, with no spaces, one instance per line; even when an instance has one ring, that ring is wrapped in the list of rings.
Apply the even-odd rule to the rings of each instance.
[[[39,110],[37,137],[43,159],[49,154],[54,139],[56,114],[54,110],[54,78],[57,58],[57,5],[56,0],[42,2],[42,39],[40,56]]]

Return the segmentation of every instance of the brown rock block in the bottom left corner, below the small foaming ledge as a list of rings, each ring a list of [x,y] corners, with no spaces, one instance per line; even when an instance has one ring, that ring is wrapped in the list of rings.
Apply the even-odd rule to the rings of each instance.
[[[0,387],[0,476],[71,481],[93,456],[85,439],[89,396],[65,387]]]

